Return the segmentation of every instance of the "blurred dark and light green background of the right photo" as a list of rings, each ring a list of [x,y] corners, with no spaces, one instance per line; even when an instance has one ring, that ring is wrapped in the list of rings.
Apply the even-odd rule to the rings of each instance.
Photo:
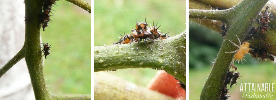
[[[224,37],[199,24],[189,21],[189,99],[198,100],[205,81],[207,80],[220,45]],[[234,45],[232,45],[234,46]],[[246,61],[243,64],[235,63],[240,72],[238,86],[232,86],[228,93],[232,100],[241,100],[240,83],[275,83],[276,65],[270,61],[259,62],[251,58],[250,54],[245,55]],[[248,86],[247,86],[248,87]],[[229,89],[229,86],[228,86]],[[250,94],[262,94],[266,92],[250,92]],[[275,92],[272,92],[276,95]],[[275,98],[275,97],[273,97]],[[248,99],[248,98],[246,98]],[[250,100],[260,100],[249,98]],[[244,100],[244,99],[243,99]]]

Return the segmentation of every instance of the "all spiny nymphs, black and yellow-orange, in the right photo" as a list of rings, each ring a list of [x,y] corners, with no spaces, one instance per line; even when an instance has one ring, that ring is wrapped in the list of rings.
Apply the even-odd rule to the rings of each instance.
[[[260,42],[259,47],[249,46],[250,45],[249,40],[254,38],[260,38],[262,40],[260,35],[264,35],[264,33],[268,31],[270,27],[268,26],[268,22],[270,18],[270,12],[268,13],[268,8],[269,7],[267,6],[266,10],[263,13],[260,12],[259,15],[261,16],[261,19],[260,18],[256,19],[256,22],[259,23],[260,26],[252,27],[249,33],[246,34],[246,37],[244,38],[244,40],[242,40],[242,42],[236,35],[239,41],[239,45],[236,45],[234,42],[229,40],[233,45],[237,46],[238,49],[235,51],[225,52],[225,53],[235,53],[235,55],[226,73],[223,87],[221,88],[221,95],[220,95],[221,100],[227,100],[230,97],[229,95],[227,95],[229,90],[227,89],[227,85],[230,84],[230,87],[232,87],[233,84],[237,83],[237,79],[240,77],[239,72],[229,71],[230,68],[234,69],[235,71],[237,70],[237,67],[234,66],[234,60],[238,61],[238,63],[240,61],[242,62],[242,60],[244,60],[244,55],[247,53],[251,53],[253,58],[259,58],[262,61],[266,59],[274,61],[273,55],[268,54],[266,51],[267,47],[271,48],[270,44]],[[222,22],[221,29],[222,29],[222,36],[225,36],[227,33],[227,26],[225,25],[224,22]]]

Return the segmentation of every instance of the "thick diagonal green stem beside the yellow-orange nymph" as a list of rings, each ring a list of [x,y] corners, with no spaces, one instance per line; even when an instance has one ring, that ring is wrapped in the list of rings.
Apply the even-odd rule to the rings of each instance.
[[[228,40],[234,41],[238,44],[237,37],[241,40],[245,38],[243,33],[248,32],[253,19],[257,16],[258,12],[262,10],[268,0],[243,0],[235,7],[232,12],[229,12],[229,28],[226,35],[226,40],[222,43],[214,66],[200,95],[201,100],[217,100],[220,96],[220,89],[225,80],[226,72],[228,71],[229,64],[233,58],[234,53],[225,53],[229,51],[235,51],[235,47]],[[246,11],[246,12],[244,12]],[[241,38],[242,37],[242,38]]]

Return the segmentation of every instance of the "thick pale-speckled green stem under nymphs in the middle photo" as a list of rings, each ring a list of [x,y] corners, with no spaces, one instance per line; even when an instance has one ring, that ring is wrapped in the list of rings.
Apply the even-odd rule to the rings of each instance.
[[[159,68],[185,83],[185,34],[157,40],[159,46],[148,42],[94,47],[94,72],[123,68]]]

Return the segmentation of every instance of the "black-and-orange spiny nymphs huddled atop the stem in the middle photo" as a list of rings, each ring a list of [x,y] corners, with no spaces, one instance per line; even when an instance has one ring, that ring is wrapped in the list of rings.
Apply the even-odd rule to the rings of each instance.
[[[154,40],[163,40],[168,38],[169,36],[167,36],[167,34],[162,34],[160,32],[160,30],[158,30],[158,28],[161,26],[159,25],[159,27],[157,27],[157,24],[154,24],[153,20],[152,20],[152,24],[153,26],[150,25],[150,27],[148,26],[148,23],[146,23],[146,18],[145,18],[145,22],[139,22],[136,21],[136,25],[135,25],[135,29],[131,30],[131,34],[120,34],[122,37],[119,39],[118,42],[113,43],[114,45],[120,45],[120,44],[128,44],[128,43],[133,43],[133,42],[138,42],[137,44],[137,51],[138,51],[138,45],[140,41],[145,41],[146,45],[150,48],[150,50],[152,51],[152,48],[149,46],[147,40],[152,41],[154,44],[158,45],[159,47],[163,48],[161,45],[159,45],[157,42],[155,42]]]

